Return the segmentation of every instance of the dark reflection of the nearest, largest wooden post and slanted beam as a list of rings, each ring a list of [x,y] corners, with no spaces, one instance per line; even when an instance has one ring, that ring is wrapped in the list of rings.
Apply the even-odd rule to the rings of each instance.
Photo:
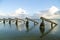
[[[43,37],[46,36],[48,33],[50,33],[53,28],[56,27],[57,24],[53,24],[51,23],[51,29],[48,30],[46,33],[44,32],[45,31],[45,25],[44,25],[44,20],[42,20],[41,24],[40,24],[40,31],[42,33],[42,35],[40,36],[40,39],[43,40]]]

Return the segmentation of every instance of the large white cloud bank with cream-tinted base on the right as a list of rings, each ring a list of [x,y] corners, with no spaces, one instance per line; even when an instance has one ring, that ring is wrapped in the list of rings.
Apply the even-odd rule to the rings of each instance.
[[[55,6],[52,6],[51,8],[49,8],[49,10],[45,10],[45,11],[39,11],[38,13],[36,13],[36,15],[38,17],[45,17],[48,19],[60,19],[60,15],[58,13],[56,13],[57,11],[59,11],[59,9]],[[56,15],[55,15],[56,13]]]

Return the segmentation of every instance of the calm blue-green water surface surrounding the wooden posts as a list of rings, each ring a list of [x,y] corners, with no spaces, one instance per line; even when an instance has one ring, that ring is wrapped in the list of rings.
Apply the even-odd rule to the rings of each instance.
[[[38,25],[29,22],[28,28],[23,22],[16,25],[0,22],[0,40],[60,40],[60,20],[52,20],[58,25],[51,29],[49,22],[45,21],[44,30],[40,29],[41,20],[37,20]]]

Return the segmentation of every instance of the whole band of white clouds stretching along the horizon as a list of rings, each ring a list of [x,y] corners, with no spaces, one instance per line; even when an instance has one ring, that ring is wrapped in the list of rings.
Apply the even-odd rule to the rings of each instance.
[[[49,8],[48,10],[44,10],[44,11],[39,11],[37,13],[35,13],[33,16],[30,16],[27,12],[27,10],[23,9],[23,8],[18,8],[17,10],[15,10],[14,12],[12,13],[9,13],[9,14],[6,14],[6,13],[3,13],[3,11],[0,11],[0,17],[11,17],[11,18],[15,18],[15,17],[18,17],[18,18],[25,18],[25,17],[30,17],[30,18],[40,18],[41,16],[43,17],[46,17],[48,19],[56,19],[56,18],[59,18],[60,17],[60,13],[57,12],[60,10],[55,7],[55,6],[52,6],[51,8]]]

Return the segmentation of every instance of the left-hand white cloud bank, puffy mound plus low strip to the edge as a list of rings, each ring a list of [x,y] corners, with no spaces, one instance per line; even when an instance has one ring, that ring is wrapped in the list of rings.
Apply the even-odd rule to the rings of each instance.
[[[3,18],[8,18],[8,17],[11,17],[11,18],[15,18],[15,17],[23,18],[23,17],[26,17],[26,16],[28,16],[28,12],[27,12],[27,10],[25,10],[23,8],[18,8],[14,12],[8,13],[8,14],[3,13],[3,11],[0,11],[0,17],[3,17]]]

